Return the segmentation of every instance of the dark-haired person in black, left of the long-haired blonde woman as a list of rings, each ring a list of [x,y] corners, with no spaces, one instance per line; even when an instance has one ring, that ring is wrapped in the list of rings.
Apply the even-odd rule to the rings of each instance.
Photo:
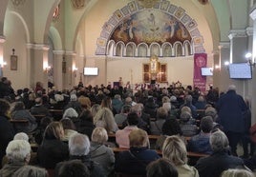
[[[91,110],[84,109],[79,116],[79,124],[76,124],[76,130],[79,133],[86,134],[88,137],[92,137],[93,130],[96,126],[93,123],[93,114]]]

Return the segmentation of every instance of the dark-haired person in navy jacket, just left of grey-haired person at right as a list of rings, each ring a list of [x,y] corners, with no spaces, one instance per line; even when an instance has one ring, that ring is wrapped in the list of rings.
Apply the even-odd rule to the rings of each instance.
[[[210,133],[213,128],[213,121],[210,116],[205,116],[200,124],[201,132],[193,136],[187,143],[187,150],[199,153],[212,153],[210,147]]]

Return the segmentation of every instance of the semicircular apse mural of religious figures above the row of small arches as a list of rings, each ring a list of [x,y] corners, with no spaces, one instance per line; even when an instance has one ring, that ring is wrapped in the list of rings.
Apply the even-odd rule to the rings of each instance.
[[[183,43],[192,38],[181,21],[171,14],[160,10],[141,10],[122,20],[110,39],[124,44],[144,42],[150,45],[155,42],[161,45],[164,42]]]

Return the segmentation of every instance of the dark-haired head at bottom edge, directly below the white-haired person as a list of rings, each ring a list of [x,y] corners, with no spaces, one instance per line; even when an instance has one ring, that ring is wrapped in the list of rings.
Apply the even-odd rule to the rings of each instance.
[[[90,171],[79,160],[67,161],[59,168],[56,177],[90,177]]]

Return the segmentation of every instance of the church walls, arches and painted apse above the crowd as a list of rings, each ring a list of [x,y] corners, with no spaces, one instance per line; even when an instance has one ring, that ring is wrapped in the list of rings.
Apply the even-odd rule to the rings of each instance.
[[[152,81],[160,87],[181,82],[220,91],[234,84],[250,100],[256,122],[255,4],[1,0],[0,74],[15,90],[33,89],[38,81],[52,82],[56,89],[79,82],[113,85],[119,77],[133,89]],[[249,66],[250,78],[230,78],[231,64],[237,63]],[[202,68],[212,74],[202,76]]]

